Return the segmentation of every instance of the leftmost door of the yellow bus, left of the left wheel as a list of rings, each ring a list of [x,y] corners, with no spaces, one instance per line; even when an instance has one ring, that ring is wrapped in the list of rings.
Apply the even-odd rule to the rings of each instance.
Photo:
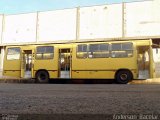
[[[21,58],[21,77],[32,77],[32,50],[23,50]]]

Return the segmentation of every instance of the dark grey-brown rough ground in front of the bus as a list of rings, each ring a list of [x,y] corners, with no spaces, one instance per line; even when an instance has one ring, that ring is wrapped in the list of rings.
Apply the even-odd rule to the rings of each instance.
[[[116,115],[160,119],[159,103],[159,84],[0,83],[1,119],[98,120]]]

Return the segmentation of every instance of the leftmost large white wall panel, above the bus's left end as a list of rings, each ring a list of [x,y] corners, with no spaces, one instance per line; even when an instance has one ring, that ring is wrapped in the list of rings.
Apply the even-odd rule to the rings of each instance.
[[[36,13],[5,16],[2,43],[36,42],[36,23]]]

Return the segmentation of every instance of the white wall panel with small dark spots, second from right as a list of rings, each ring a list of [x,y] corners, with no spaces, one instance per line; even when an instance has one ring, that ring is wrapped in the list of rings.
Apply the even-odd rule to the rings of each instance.
[[[122,4],[80,9],[80,39],[122,37]]]

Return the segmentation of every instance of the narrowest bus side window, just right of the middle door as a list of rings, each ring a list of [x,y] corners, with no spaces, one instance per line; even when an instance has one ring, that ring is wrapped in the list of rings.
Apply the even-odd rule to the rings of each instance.
[[[87,45],[77,45],[77,58],[87,58],[88,52],[87,52]]]

